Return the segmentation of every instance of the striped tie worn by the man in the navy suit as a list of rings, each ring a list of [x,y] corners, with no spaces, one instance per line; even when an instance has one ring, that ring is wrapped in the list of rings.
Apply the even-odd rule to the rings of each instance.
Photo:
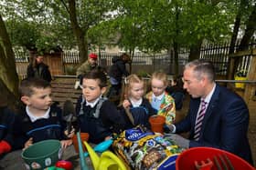
[[[195,135],[194,135],[195,141],[199,140],[200,131],[201,131],[203,119],[204,119],[205,114],[206,114],[206,110],[207,110],[207,102],[205,102],[202,99],[201,100],[201,109],[197,114],[197,120],[196,120],[196,125],[195,125]]]

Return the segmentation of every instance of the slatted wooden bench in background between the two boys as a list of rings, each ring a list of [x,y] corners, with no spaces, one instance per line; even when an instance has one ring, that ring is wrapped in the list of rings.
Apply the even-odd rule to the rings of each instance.
[[[58,76],[51,82],[52,100],[58,102],[62,107],[66,100],[70,100],[74,105],[81,95],[81,89],[75,89],[76,77]]]

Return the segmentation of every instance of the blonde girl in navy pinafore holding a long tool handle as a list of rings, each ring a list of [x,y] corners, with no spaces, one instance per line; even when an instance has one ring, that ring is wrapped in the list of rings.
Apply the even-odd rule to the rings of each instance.
[[[144,88],[144,80],[141,77],[129,75],[126,78],[123,107],[121,108],[125,117],[126,128],[132,128],[136,125],[150,128],[148,119],[154,115],[154,110],[148,100],[143,97]]]

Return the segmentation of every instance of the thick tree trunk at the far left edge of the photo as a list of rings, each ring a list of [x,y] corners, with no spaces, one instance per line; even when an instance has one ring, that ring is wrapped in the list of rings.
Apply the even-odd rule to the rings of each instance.
[[[0,79],[7,88],[7,94],[12,96],[5,98],[10,103],[18,98],[18,75],[15,54],[2,15],[0,15],[0,40]]]

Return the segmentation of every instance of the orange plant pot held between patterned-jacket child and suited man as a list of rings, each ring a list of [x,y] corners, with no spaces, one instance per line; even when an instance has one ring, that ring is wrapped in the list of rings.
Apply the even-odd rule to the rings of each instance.
[[[163,115],[152,115],[149,118],[151,130],[156,133],[164,133],[165,116]]]

